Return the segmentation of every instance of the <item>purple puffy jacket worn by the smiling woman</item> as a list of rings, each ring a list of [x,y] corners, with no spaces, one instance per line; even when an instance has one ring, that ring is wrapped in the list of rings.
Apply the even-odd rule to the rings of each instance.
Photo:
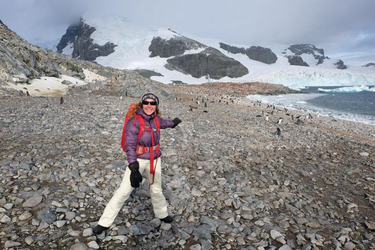
[[[139,110],[136,111],[137,114],[141,115],[144,118],[144,125],[151,128],[156,128],[155,122],[153,121],[153,118],[156,116],[155,114],[152,115],[146,115],[142,108],[139,108]],[[145,154],[142,154],[140,156],[136,156],[136,145],[139,144],[141,146],[155,146],[160,141],[159,132],[153,131],[153,139],[155,142],[155,145],[152,145],[152,138],[151,138],[151,132],[145,131],[141,138],[139,138],[138,141],[138,133],[139,133],[139,121],[136,120],[136,124],[134,125],[134,116],[130,118],[130,120],[127,122],[127,125],[125,127],[125,147],[127,149],[127,162],[133,163],[136,161],[136,158],[141,158],[145,160],[150,159],[150,152],[146,152]],[[167,127],[172,127],[174,123],[172,120],[165,120],[163,118],[158,118],[160,123],[160,130],[165,129]],[[161,156],[161,151],[159,151],[159,155],[156,156],[156,152],[153,151],[154,158]]]

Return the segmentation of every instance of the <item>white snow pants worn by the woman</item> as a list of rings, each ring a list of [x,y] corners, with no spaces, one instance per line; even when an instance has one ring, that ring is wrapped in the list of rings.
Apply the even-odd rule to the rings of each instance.
[[[153,182],[153,175],[150,173],[150,161],[144,159],[137,159],[139,162],[139,172],[142,174],[146,171],[146,177],[148,183]],[[155,166],[156,160],[154,160]],[[103,227],[110,227],[113,221],[115,220],[117,214],[120,212],[120,209],[124,205],[129,195],[132,193],[134,187],[130,185],[130,173],[132,171],[129,168],[125,169],[124,177],[122,178],[122,182],[120,187],[116,190],[115,194],[113,194],[110,201],[106,208],[103,211],[103,215],[101,215],[100,220],[98,221],[98,225],[102,225]],[[163,190],[161,187],[161,162],[160,157],[156,163],[155,169],[155,178],[153,185],[150,185],[150,193],[151,193],[151,201],[153,203],[153,212],[155,213],[155,217],[162,219],[167,217],[167,202],[165,201],[165,197],[163,194]]]

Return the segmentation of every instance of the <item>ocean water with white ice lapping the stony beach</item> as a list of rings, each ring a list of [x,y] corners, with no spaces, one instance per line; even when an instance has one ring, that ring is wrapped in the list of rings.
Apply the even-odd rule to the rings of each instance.
[[[375,125],[375,87],[306,87],[301,94],[250,95],[262,101],[295,110]]]

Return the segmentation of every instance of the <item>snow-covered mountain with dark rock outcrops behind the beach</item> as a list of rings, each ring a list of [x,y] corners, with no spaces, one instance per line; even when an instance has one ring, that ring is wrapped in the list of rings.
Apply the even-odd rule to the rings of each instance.
[[[147,70],[152,80],[165,84],[259,81],[293,89],[375,85],[371,62],[345,65],[311,44],[229,44],[139,27],[119,16],[82,18],[68,28],[57,51],[113,68]]]

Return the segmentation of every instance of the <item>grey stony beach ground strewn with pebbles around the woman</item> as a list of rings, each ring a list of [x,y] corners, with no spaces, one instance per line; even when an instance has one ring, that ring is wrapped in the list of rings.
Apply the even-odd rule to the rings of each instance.
[[[161,142],[174,222],[154,218],[144,183],[98,236],[138,99],[1,96],[0,248],[375,249],[374,126],[169,88],[163,117],[183,120]]]

